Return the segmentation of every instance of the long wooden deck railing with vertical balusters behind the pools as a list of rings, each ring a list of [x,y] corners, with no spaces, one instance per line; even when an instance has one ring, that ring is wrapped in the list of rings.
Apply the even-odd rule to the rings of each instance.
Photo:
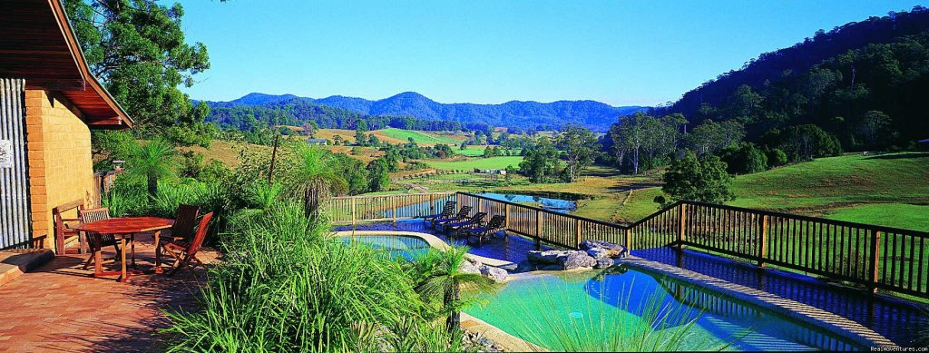
[[[628,225],[574,216],[466,193],[338,197],[334,223],[360,223],[434,214],[446,201],[506,216],[506,228],[542,243],[577,248],[584,240],[629,249],[681,246],[730,255],[759,267],[776,266],[877,289],[929,294],[929,233],[810,216],[679,202]]]

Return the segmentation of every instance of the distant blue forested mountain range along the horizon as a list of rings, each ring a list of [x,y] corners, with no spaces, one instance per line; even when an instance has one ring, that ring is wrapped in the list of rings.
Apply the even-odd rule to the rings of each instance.
[[[273,111],[293,111],[297,121],[312,119],[322,122],[347,118],[390,121],[390,117],[414,117],[417,121],[446,121],[463,126],[486,124],[517,128],[551,129],[566,124],[582,124],[595,131],[607,131],[617,117],[643,107],[612,107],[593,100],[560,100],[551,103],[509,101],[503,104],[438,103],[415,92],[405,92],[380,100],[333,96],[301,98],[294,95],[252,93],[228,102],[207,104],[213,113],[209,120],[221,122],[236,111],[251,111],[273,115]],[[330,115],[330,116],[327,116]],[[376,118],[376,119],[375,119]],[[438,123],[433,123],[438,124]],[[374,124],[377,125],[377,124]]]

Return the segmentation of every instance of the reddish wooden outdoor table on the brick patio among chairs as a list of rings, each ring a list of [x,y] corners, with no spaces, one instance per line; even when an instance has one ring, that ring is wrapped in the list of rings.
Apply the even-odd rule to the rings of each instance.
[[[169,229],[174,224],[173,219],[167,218],[158,218],[158,217],[122,217],[122,218],[111,218],[99,220],[96,222],[90,222],[75,226],[74,229],[86,231],[89,233],[97,234],[112,234],[115,237],[120,245],[121,251],[120,255],[122,266],[121,271],[111,271],[104,272],[103,266],[100,264],[102,262],[100,256],[100,238],[94,237],[94,246],[97,250],[94,251],[94,277],[101,276],[115,276],[120,275],[119,279],[116,281],[125,281],[129,279],[129,271],[125,268],[125,240],[129,239],[130,246],[132,248],[132,266],[136,267],[136,242],[135,235],[137,233],[144,233],[147,231],[155,232],[155,251],[158,250],[158,242],[160,241],[162,229]],[[161,256],[155,255],[155,273],[162,273],[162,264],[159,259]]]

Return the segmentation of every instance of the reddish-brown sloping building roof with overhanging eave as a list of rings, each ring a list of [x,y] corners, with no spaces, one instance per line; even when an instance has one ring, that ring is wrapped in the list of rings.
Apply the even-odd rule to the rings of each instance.
[[[91,128],[132,127],[90,73],[59,0],[0,1],[0,75],[25,79],[26,89],[61,92]]]

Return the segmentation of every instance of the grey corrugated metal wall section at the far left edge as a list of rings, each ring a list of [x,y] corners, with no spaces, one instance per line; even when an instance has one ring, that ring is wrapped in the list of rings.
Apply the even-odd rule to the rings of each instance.
[[[25,81],[0,78],[0,249],[31,245],[26,163]],[[2,152],[0,152],[2,153]]]

